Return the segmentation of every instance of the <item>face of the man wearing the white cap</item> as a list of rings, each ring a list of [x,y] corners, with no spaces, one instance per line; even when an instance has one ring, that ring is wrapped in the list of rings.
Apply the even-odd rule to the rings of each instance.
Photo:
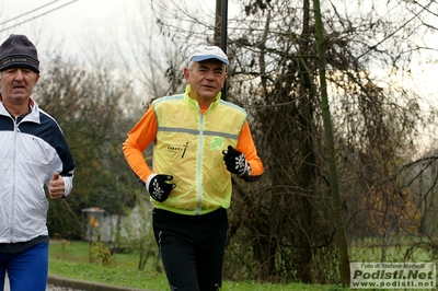
[[[227,79],[224,63],[216,59],[194,62],[192,70],[184,70],[184,75],[192,88],[191,97],[205,101],[214,101]]]

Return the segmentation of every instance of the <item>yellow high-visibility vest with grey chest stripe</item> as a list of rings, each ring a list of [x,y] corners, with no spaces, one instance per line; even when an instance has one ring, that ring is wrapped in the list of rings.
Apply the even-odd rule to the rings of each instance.
[[[158,120],[152,172],[172,175],[176,188],[164,202],[151,201],[172,212],[204,214],[230,207],[231,174],[222,151],[237,146],[246,112],[219,93],[203,115],[188,92],[189,85],[184,94],[152,103]]]

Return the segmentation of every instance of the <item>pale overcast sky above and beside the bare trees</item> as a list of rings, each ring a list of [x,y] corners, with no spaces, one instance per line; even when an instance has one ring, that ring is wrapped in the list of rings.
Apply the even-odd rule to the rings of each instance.
[[[14,0],[0,1],[0,42],[11,33],[25,34],[38,50],[44,46],[62,39],[67,54],[82,51],[84,39],[105,39],[108,33],[123,35],[131,18],[136,18],[138,0]],[[150,1],[150,0],[142,0]],[[169,1],[169,0],[168,0]],[[215,0],[174,0],[183,4],[215,8]],[[229,15],[239,0],[229,1]],[[24,15],[23,15],[24,14]],[[120,39],[123,39],[120,37]],[[51,43],[53,43],[51,42]],[[426,94],[436,96],[437,63],[416,68],[416,85]]]

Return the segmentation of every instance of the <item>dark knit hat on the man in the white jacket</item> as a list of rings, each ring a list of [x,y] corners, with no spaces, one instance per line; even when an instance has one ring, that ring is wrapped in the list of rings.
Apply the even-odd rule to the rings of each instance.
[[[0,72],[10,68],[28,68],[39,73],[36,47],[25,35],[11,34],[0,46]]]

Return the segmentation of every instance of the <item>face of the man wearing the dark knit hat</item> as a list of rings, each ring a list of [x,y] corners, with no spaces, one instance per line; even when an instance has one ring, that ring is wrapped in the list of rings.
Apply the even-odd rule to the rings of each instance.
[[[0,78],[3,103],[20,104],[27,102],[39,74],[27,68],[10,68]]]

